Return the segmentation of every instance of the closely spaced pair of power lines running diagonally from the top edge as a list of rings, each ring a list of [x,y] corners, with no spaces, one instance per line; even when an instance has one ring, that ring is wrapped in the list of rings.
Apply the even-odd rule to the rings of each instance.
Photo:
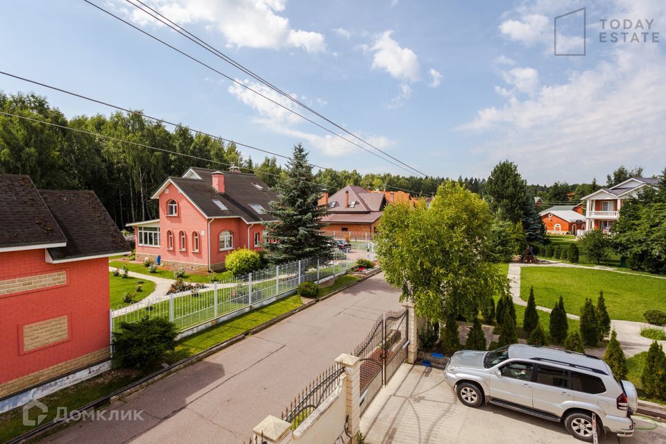
[[[198,44],[198,46],[201,46],[203,49],[212,53],[214,56],[216,56],[218,58],[221,58],[222,60],[224,60],[225,62],[228,62],[233,67],[236,67],[237,69],[243,71],[245,74],[248,74],[248,76],[251,76],[251,77],[255,78],[255,80],[258,80],[259,82],[263,83],[267,87],[273,89],[273,91],[277,92],[278,94],[284,96],[285,98],[289,99],[290,101],[293,101],[293,103],[296,103],[296,104],[300,105],[302,108],[305,108],[309,112],[315,114],[317,117],[320,117],[321,119],[327,121],[328,123],[331,123],[336,128],[339,128],[340,130],[343,130],[348,135],[350,135],[350,136],[354,137],[355,139],[359,140],[359,142],[363,142],[364,144],[370,146],[371,148],[374,148],[375,150],[379,151],[379,153],[382,153],[382,154],[384,154],[388,157],[391,157],[391,159],[395,160],[396,162],[399,162],[400,164],[403,164],[405,167],[415,171],[416,173],[422,174],[423,176],[427,177],[427,175],[425,173],[422,173],[421,171],[418,171],[418,169],[415,169],[415,168],[411,167],[411,165],[406,164],[405,162],[402,162],[402,160],[399,160],[399,159],[393,157],[392,155],[386,153],[386,151],[383,151],[382,149],[377,148],[377,146],[374,146],[373,144],[370,144],[370,142],[367,142],[366,140],[361,139],[361,137],[355,135],[354,133],[351,133],[349,130],[347,130],[343,126],[339,125],[338,123],[335,123],[331,119],[325,117],[320,112],[314,110],[313,108],[309,107],[305,103],[302,103],[301,101],[299,101],[295,97],[291,96],[290,94],[287,94],[287,92],[282,91],[282,89],[276,87],[275,85],[268,82],[268,80],[265,80],[264,78],[262,78],[258,74],[255,74],[253,71],[250,71],[250,69],[244,67],[239,62],[236,62],[235,60],[233,60],[232,58],[227,56],[225,53],[223,53],[222,51],[219,51],[219,49],[216,49],[214,46],[208,44],[204,40],[201,40],[200,37],[194,35],[193,33],[189,32],[189,31],[187,31],[187,29],[183,28],[179,24],[176,24],[175,22],[173,22],[168,17],[165,17],[164,15],[162,15],[160,12],[158,12],[154,8],[151,8],[151,6],[146,5],[146,3],[144,3],[143,1],[135,0],[135,1],[137,1],[137,3],[140,3],[144,8],[150,10],[151,12],[148,12],[148,10],[142,8],[141,6],[138,6],[137,4],[133,3],[133,1],[131,1],[131,0],[126,0],[126,1],[128,3],[130,3],[130,5],[134,6],[135,8],[141,10],[142,12],[145,12],[150,17],[153,17],[153,19],[156,19],[160,23],[162,23],[166,26],[169,26],[169,28],[171,28],[173,31],[176,31],[177,33],[179,33],[183,37],[186,37],[188,40],[191,40],[191,42],[194,42],[194,43]]]

